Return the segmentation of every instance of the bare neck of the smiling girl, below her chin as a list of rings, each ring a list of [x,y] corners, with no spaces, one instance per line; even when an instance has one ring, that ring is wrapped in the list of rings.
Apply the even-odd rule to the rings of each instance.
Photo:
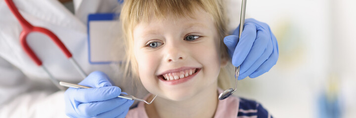
[[[149,118],[213,118],[218,106],[217,84],[203,89],[183,101],[157,96],[152,105],[145,105]]]

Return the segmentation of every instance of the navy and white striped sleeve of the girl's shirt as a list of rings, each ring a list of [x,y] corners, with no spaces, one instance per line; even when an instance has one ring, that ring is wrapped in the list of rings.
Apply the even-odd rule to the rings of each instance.
[[[237,118],[273,118],[262,105],[256,101],[240,98]]]

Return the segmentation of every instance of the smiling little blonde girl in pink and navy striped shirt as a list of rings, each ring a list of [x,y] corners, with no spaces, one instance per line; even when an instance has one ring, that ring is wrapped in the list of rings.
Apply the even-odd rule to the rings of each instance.
[[[255,101],[218,100],[229,80],[222,0],[125,0],[120,17],[127,76],[151,93],[146,101],[158,94],[127,118],[271,118]]]

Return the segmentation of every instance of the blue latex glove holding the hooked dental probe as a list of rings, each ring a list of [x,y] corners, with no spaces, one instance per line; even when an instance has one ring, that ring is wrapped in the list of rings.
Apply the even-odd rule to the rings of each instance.
[[[134,103],[118,98],[124,92],[112,86],[108,76],[100,71],[90,73],[79,85],[91,88],[69,88],[64,93],[65,112],[71,118],[125,118]]]

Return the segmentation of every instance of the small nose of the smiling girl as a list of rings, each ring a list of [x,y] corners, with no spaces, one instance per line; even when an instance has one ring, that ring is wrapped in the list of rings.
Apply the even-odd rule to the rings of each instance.
[[[177,46],[170,46],[167,49],[165,60],[167,62],[177,62],[179,60],[184,60],[186,58],[186,53],[184,48],[179,48]]]

